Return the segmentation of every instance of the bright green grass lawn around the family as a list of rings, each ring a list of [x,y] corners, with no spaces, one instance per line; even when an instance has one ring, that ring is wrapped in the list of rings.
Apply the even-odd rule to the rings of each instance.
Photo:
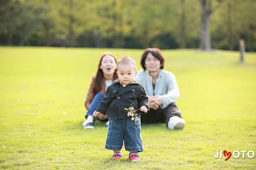
[[[124,148],[122,160],[110,159],[104,122],[82,128],[104,51],[130,54],[141,69],[142,49],[0,47],[0,169],[256,169],[247,155],[256,154],[256,53],[241,64],[237,51],[163,50],[186,126],[142,125],[144,152],[130,162]]]

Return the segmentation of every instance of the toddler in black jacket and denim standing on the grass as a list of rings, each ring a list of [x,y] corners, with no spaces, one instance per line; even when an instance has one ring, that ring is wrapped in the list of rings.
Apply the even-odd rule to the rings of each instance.
[[[141,112],[147,113],[149,110],[148,97],[144,87],[134,81],[137,69],[132,58],[123,57],[118,61],[117,74],[118,79],[108,86],[93,116],[106,114],[110,117],[105,148],[114,151],[112,158],[122,158],[121,149],[124,143],[125,149],[130,151],[130,161],[137,161],[140,160],[138,152],[144,150],[140,134],[140,115]],[[131,119],[132,116],[127,115],[128,111],[124,108],[129,107],[138,110],[138,119]]]

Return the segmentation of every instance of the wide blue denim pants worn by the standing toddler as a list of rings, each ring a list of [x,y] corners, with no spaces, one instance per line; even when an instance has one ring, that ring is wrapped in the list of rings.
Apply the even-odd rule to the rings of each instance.
[[[114,120],[109,118],[105,148],[109,150],[121,150],[124,143],[125,150],[142,152],[144,149],[140,129],[140,120],[132,121],[130,118]]]

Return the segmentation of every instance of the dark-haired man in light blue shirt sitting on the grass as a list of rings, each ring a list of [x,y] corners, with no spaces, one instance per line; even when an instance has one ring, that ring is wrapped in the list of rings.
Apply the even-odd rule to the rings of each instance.
[[[144,86],[150,106],[150,111],[141,115],[141,123],[166,123],[170,129],[184,128],[185,121],[174,103],[180,91],[174,74],[163,70],[164,56],[160,49],[145,49],[140,64],[144,70],[138,71],[135,80]]]

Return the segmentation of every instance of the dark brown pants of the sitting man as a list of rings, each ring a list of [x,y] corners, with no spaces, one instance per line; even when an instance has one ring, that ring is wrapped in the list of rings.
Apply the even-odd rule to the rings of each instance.
[[[140,116],[140,121],[141,123],[166,123],[168,127],[169,119],[174,116],[182,118],[180,109],[175,103],[171,103],[165,109],[160,107],[157,110],[150,109],[148,113]]]

